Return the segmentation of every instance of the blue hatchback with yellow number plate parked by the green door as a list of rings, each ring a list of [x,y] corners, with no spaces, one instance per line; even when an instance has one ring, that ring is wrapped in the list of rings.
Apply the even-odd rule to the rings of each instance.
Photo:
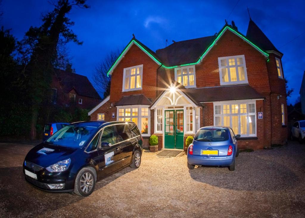
[[[235,157],[239,155],[237,138],[230,127],[206,126],[200,128],[188,146],[188,169],[195,165],[229,167],[235,170]]]

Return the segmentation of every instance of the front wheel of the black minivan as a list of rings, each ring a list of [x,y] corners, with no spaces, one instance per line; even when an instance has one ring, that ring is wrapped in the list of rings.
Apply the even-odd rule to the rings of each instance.
[[[91,168],[82,168],[75,179],[74,193],[83,197],[91,195],[95,188],[95,182],[96,173]]]

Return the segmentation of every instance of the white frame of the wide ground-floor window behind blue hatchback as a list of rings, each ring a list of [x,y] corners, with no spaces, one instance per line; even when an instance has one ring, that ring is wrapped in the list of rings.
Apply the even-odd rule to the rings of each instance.
[[[223,105],[230,105],[230,112],[228,114],[223,113]],[[238,113],[232,114],[232,104],[238,104]],[[240,113],[240,104],[247,104],[247,113]],[[254,104],[254,112],[249,113],[249,104]],[[216,114],[215,113],[215,106],[221,106],[221,113]],[[241,135],[239,132],[234,132],[235,135],[240,134],[241,137],[256,137],[257,136],[257,114],[256,114],[256,101],[255,100],[236,100],[236,101],[226,101],[226,102],[213,102],[213,116],[214,116],[214,125],[215,125],[215,118],[221,117],[221,126],[224,125],[224,116],[230,116],[230,127],[232,128],[232,116],[238,116],[238,125],[239,125],[239,131],[240,131],[240,116],[247,115],[249,118],[250,115],[255,115],[255,134],[249,134],[249,119],[247,119],[247,135]],[[233,128],[232,128],[233,129]]]

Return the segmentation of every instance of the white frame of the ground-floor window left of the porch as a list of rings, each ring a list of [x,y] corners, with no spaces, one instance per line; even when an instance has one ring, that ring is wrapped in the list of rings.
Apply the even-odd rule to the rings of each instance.
[[[130,116],[125,116],[125,109],[126,108],[130,108]],[[132,116],[132,108],[138,108],[138,115],[136,116]],[[142,108],[148,108],[148,115],[147,116],[142,116]],[[119,114],[119,109],[124,109],[124,113],[123,116],[120,116]],[[132,121],[132,118],[137,118],[138,119],[138,123],[137,126],[141,132],[142,136],[150,136],[150,108],[149,105],[124,105],[124,106],[117,106],[117,120],[119,120],[120,118],[123,118],[123,120],[125,120],[125,118],[130,118],[130,120]],[[148,133],[147,134],[143,134],[142,133],[142,123],[141,122],[141,118],[148,118]]]

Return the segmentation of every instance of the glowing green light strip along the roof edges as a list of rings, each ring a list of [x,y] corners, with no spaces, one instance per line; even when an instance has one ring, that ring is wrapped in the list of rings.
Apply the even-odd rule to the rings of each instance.
[[[221,37],[222,33],[225,31],[225,30],[231,30],[232,32],[234,32],[235,34],[237,34],[239,37],[241,37],[243,40],[245,40],[246,42],[248,42],[249,44],[251,44],[253,47],[255,47],[257,50],[259,50],[260,52],[262,52],[265,56],[267,56],[267,61],[269,60],[269,54],[266,53],[265,51],[263,51],[262,49],[260,49],[258,46],[256,46],[255,44],[253,44],[251,41],[249,41],[248,39],[246,39],[242,34],[236,32],[234,29],[232,29],[231,27],[229,26],[226,26],[222,31],[221,33],[218,34],[218,36],[216,37],[216,39],[212,42],[212,44],[210,44],[210,46],[206,49],[206,51],[200,56],[200,58],[198,59],[197,62],[195,63],[189,63],[189,64],[182,64],[182,65],[175,65],[175,66],[165,66],[163,65],[160,61],[158,61],[152,54],[149,53],[149,51],[147,51],[142,45],[138,44],[135,40],[132,40],[128,45],[127,47],[124,49],[124,51],[122,52],[122,54],[117,58],[116,62],[114,62],[114,64],[112,65],[112,67],[109,69],[108,73],[107,73],[107,76],[109,76],[109,73],[110,71],[113,69],[113,67],[117,64],[117,62],[120,60],[120,58],[123,56],[123,54],[125,53],[125,51],[127,49],[129,49],[129,47],[131,46],[132,43],[135,43],[138,47],[140,47],[142,50],[144,50],[148,55],[149,57],[151,57],[155,62],[157,62],[158,64],[162,65],[163,68],[166,68],[166,69],[172,69],[172,68],[176,68],[176,67],[183,67],[183,66],[188,66],[188,65],[196,65],[196,64],[199,64],[199,62],[203,59],[203,57],[210,51],[210,48],[213,47],[216,43],[216,41]]]

